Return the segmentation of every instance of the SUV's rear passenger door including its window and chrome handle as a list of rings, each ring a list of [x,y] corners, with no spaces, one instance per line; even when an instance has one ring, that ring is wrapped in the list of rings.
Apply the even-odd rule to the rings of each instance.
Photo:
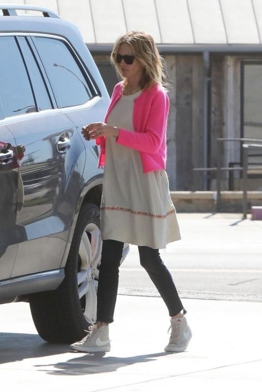
[[[85,163],[83,143],[57,108],[29,40],[0,37],[3,123],[21,148],[16,220],[25,236],[12,277],[59,268]]]

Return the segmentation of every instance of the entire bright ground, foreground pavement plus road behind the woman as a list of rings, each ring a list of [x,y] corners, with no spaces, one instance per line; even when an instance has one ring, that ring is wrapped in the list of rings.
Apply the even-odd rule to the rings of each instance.
[[[168,245],[163,257],[171,271],[176,269],[188,310],[193,337],[187,351],[164,351],[166,306],[145,280],[138,287],[142,271],[131,247],[121,266],[109,353],[79,353],[65,344],[45,343],[27,303],[1,305],[0,391],[262,392],[262,221],[242,221],[239,214],[179,214],[179,222],[183,240]],[[198,269],[202,283],[194,288]],[[246,277],[236,270],[246,271]],[[257,280],[250,279],[251,270]],[[133,286],[127,281],[131,272],[136,274]],[[223,287],[214,280],[217,273],[224,273]],[[228,294],[233,283],[241,290]]]

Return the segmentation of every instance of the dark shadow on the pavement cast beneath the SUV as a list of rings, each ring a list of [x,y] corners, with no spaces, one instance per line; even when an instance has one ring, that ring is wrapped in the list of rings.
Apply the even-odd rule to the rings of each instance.
[[[0,332],[0,364],[69,352],[68,344],[51,344],[37,334]]]

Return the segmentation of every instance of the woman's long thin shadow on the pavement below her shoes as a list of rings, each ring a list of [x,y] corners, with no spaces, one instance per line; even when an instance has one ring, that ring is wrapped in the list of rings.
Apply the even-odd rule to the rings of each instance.
[[[108,355],[108,354],[107,354]],[[40,371],[45,371],[51,375],[74,375],[81,376],[86,374],[94,373],[107,373],[110,371],[116,371],[124,366],[130,366],[133,364],[144,363],[149,361],[155,361],[159,357],[174,355],[174,353],[158,352],[144,355],[137,355],[134,357],[105,357],[105,353],[89,353],[83,357],[77,357],[70,359],[66,362],[59,362],[57,364],[48,364],[40,366]],[[54,367],[56,369],[48,370],[46,368]]]

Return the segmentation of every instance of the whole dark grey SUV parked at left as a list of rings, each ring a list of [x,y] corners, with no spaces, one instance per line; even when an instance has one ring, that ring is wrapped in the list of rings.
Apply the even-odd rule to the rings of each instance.
[[[0,53],[0,303],[29,301],[44,340],[73,342],[96,318],[101,253],[103,172],[81,127],[109,97],[77,27],[46,8],[0,5]]]

